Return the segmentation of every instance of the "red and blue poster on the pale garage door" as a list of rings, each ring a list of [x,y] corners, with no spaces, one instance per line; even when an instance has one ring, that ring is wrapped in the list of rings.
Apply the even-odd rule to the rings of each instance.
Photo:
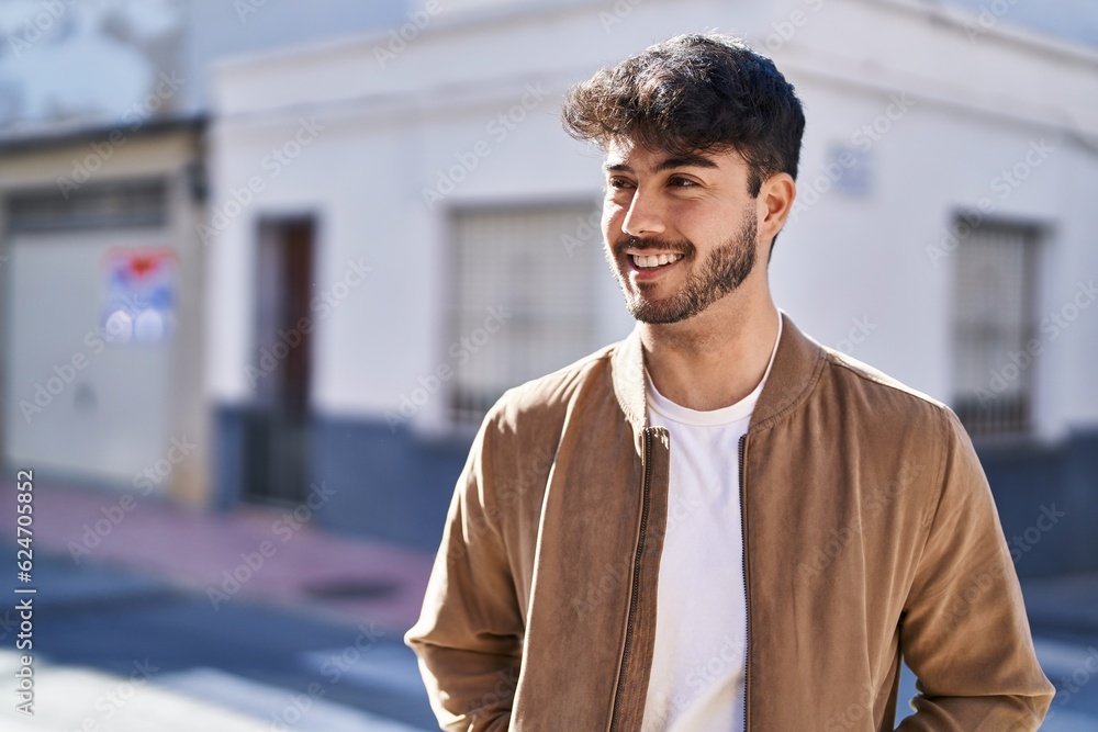
[[[111,249],[103,255],[103,339],[115,346],[158,346],[176,318],[176,252],[164,247]]]

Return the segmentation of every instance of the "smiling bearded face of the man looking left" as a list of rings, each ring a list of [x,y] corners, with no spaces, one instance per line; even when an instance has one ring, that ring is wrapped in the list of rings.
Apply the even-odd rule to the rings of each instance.
[[[679,157],[619,143],[604,169],[606,258],[635,318],[679,323],[751,273],[757,207],[737,153]]]

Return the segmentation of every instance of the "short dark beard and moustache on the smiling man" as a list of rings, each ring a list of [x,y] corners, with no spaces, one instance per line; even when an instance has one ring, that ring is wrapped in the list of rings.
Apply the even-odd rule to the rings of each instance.
[[[639,291],[630,290],[629,270],[623,269],[619,263],[628,257],[625,250],[634,248],[679,252],[683,255],[680,262],[686,264],[693,261],[696,252],[696,247],[691,241],[629,237],[616,245],[613,250],[607,247],[606,259],[610,271],[621,285],[621,292],[625,293],[629,314],[641,323],[659,325],[680,323],[694,317],[740,286],[754,269],[758,235],[754,211],[749,210],[746,214],[740,230],[715,247],[704,261],[695,263],[679,292],[661,300],[646,297],[645,284],[639,285]]]

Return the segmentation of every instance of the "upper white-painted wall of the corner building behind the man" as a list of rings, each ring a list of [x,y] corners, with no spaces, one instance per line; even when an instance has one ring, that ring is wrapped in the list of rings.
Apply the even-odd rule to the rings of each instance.
[[[248,398],[259,215],[321,215],[318,286],[336,281],[350,258],[374,268],[320,331],[316,401],[329,413],[393,408],[416,376],[435,368],[446,342],[447,209],[596,199],[600,155],[561,132],[563,91],[651,42],[716,27],[771,50],[805,100],[803,192],[830,146],[856,147],[862,125],[887,114],[893,94],[907,92],[910,110],[897,115],[893,108],[898,119],[872,145],[875,180],[867,193],[829,191],[791,223],[772,281],[778,304],[822,342],[842,345],[855,319],[867,316],[875,329],[852,353],[949,398],[950,259],[935,267],[927,248],[940,243],[957,209],[989,196],[996,214],[1052,225],[1043,306],[1066,302],[1082,272],[1098,274],[1090,234],[1098,212],[1087,200],[1098,161],[1093,147],[1075,142],[1077,131],[1098,128],[1098,56],[999,29],[974,43],[961,25],[932,13],[906,0],[572,2],[501,10],[491,22],[440,13],[384,67],[377,57],[389,42],[383,34],[220,66],[211,135],[215,206],[249,174],[266,176],[260,161],[292,138],[300,117],[315,115],[324,129],[278,178],[264,177],[266,190],[211,245],[214,397]],[[489,127],[522,102],[528,85],[549,93],[505,135]],[[996,176],[1040,139],[1055,151],[999,199]],[[428,207],[424,188],[479,140],[490,154]],[[601,333],[609,341],[628,330],[629,318],[608,272],[602,281]],[[1085,365],[1098,354],[1096,333],[1098,307],[1042,357],[1042,432],[1098,420],[1098,390]]]

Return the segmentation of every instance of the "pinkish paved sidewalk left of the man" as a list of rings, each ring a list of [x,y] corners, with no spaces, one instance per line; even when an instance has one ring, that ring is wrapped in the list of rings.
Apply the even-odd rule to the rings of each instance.
[[[0,537],[13,537],[15,527],[8,497],[0,502]],[[80,565],[145,572],[199,590],[213,607],[249,598],[397,633],[418,617],[428,554],[327,533],[287,510],[213,513],[121,498],[37,483],[34,549]]]

